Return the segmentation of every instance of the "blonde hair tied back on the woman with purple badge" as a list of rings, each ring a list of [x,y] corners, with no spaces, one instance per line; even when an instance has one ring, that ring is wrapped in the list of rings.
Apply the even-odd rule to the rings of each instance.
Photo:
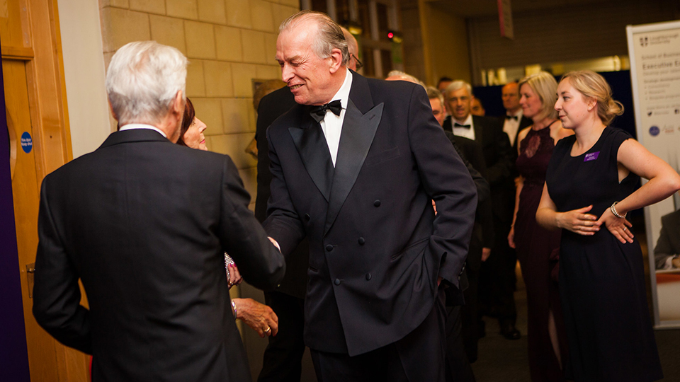
[[[600,74],[591,70],[570,71],[562,76],[560,82],[566,79],[584,97],[597,101],[597,116],[604,125],[609,125],[614,117],[623,114],[623,105],[611,98],[611,88]]]

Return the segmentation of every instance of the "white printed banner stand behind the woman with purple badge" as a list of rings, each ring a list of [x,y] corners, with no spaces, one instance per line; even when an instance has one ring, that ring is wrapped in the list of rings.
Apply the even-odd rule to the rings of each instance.
[[[626,31],[638,141],[677,171],[680,164],[680,22],[628,25]],[[662,228],[661,217],[674,212],[678,202],[678,195],[674,195],[645,208],[657,327],[680,327],[680,269],[659,269],[654,253]],[[680,235],[680,232],[674,234]]]

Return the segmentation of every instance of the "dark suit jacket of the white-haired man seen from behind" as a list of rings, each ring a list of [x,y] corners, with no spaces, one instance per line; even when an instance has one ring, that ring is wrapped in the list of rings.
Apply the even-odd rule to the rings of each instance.
[[[223,254],[263,289],[285,264],[249,199],[228,156],[111,134],[42,182],[35,319],[94,381],[250,381]]]

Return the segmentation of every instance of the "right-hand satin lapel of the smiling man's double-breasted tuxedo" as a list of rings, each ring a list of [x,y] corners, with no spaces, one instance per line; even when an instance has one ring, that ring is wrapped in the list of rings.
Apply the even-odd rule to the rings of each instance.
[[[333,226],[342,204],[354,187],[363,161],[368,155],[370,144],[373,143],[375,131],[378,130],[378,125],[380,125],[383,106],[384,104],[380,103],[362,115],[361,110],[354,105],[351,98],[348,102],[340,134],[340,145],[335,162],[335,175],[328,202],[324,236]]]

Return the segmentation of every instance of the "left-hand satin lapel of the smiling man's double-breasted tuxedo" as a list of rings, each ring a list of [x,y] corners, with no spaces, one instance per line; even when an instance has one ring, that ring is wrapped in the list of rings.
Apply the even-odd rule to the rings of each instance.
[[[310,122],[306,127],[288,127],[288,132],[293,137],[307,173],[310,174],[314,185],[317,185],[328,202],[334,168],[321,125],[310,117]]]

